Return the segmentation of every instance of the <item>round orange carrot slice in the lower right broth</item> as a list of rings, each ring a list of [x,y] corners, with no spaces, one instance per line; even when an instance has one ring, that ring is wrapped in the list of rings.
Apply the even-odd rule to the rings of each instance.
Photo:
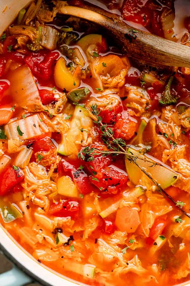
[[[121,231],[126,231],[127,233],[132,233],[137,230],[140,225],[140,218],[137,209],[131,209],[125,206],[122,209],[118,209],[115,225]]]

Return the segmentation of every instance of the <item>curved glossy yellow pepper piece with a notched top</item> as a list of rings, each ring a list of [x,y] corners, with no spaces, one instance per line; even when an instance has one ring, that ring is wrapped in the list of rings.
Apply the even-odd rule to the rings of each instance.
[[[66,60],[60,57],[56,63],[54,71],[54,80],[59,88],[68,91],[80,86],[80,68],[77,67],[74,72],[66,66]]]

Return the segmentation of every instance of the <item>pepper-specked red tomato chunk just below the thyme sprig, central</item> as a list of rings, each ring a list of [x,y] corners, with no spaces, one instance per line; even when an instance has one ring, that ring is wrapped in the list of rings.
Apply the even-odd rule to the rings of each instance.
[[[112,195],[117,194],[119,188],[128,181],[127,174],[114,166],[105,167],[89,178],[101,192]]]

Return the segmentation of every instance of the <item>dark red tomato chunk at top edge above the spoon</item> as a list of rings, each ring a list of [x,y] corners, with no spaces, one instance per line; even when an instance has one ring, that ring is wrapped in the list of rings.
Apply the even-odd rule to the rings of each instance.
[[[141,0],[125,0],[122,7],[122,16],[127,21],[147,26],[150,22],[150,10],[143,6]]]

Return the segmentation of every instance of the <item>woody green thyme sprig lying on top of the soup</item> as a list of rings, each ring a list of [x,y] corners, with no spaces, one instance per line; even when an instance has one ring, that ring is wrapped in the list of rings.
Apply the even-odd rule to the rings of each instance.
[[[107,127],[106,124],[102,123],[102,117],[99,115],[100,110],[97,108],[97,105],[96,104],[92,105],[91,109],[92,109],[92,114],[96,116],[96,120],[94,120],[94,123],[96,123],[100,127],[100,130],[102,131],[101,138],[109,150],[99,150],[98,148],[91,147],[91,145],[89,144],[88,146],[80,150],[80,152],[78,153],[78,158],[80,158],[81,160],[85,160],[85,161],[93,161],[94,156],[96,155],[99,155],[99,156],[108,156],[108,155],[116,156],[118,154],[125,155],[127,160],[132,162],[132,164],[135,164],[153,182],[153,184],[155,184],[158,187],[158,190],[162,195],[164,195],[169,200],[171,200],[172,203],[174,203],[175,206],[178,207],[178,209],[180,209],[184,215],[190,218],[190,214],[185,212],[182,209],[183,207],[182,204],[179,204],[177,201],[175,201],[160,186],[160,184],[158,184],[157,181],[154,180],[148,172],[146,172],[146,170],[143,167],[139,166],[137,164],[137,159],[150,162],[152,165],[149,167],[153,167],[156,165],[162,166],[162,164],[157,163],[157,162],[154,163],[151,160],[140,158],[138,156],[133,155],[131,152],[128,153],[129,150],[128,150],[128,146],[126,145],[125,141],[122,138],[114,138],[113,130],[110,127]]]

